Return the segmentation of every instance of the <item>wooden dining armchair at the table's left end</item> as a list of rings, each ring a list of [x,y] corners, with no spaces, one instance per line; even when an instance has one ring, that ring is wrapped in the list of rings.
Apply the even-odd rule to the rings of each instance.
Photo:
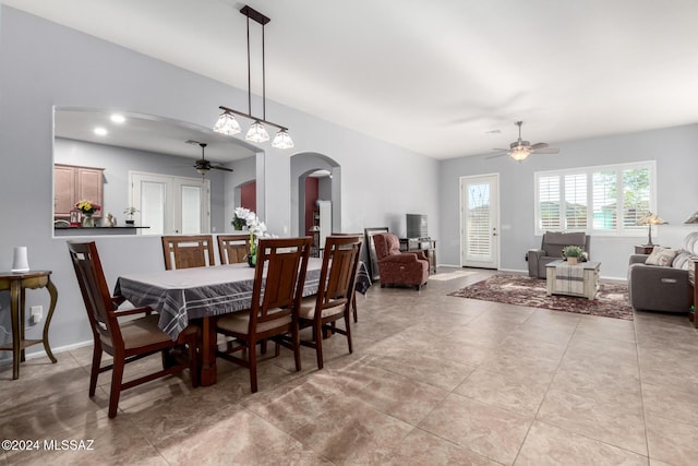
[[[101,268],[97,246],[92,242],[69,242],[68,250],[75,268],[80,290],[83,295],[87,318],[92,326],[94,349],[92,370],[89,375],[89,396],[95,395],[97,377],[105,371],[111,372],[111,390],[109,394],[109,417],[117,416],[119,397],[123,390],[131,389],[154,379],[181,372],[189,368],[192,385],[198,386],[198,356],[196,328],[188,327],[180,333],[178,340],[173,342],[169,335],[163,332],[157,323],[158,315],[152,314],[151,308],[117,309],[123,298],[111,297],[107,280]],[[142,316],[133,319],[134,315]],[[120,321],[128,316],[128,320]],[[163,353],[186,345],[189,357],[182,362],[173,362],[163,370],[123,382],[123,372],[127,363],[146,356]],[[101,366],[101,355],[107,353],[113,357],[109,366]],[[166,357],[163,355],[163,361]],[[165,363],[164,363],[165,366]]]

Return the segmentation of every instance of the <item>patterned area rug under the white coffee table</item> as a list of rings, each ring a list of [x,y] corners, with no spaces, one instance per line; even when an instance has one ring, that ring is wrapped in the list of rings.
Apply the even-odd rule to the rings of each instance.
[[[595,298],[590,300],[573,296],[547,296],[545,295],[545,280],[541,278],[525,275],[494,275],[450,292],[448,296],[633,320],[628,287],[621,284],[601,284]]]

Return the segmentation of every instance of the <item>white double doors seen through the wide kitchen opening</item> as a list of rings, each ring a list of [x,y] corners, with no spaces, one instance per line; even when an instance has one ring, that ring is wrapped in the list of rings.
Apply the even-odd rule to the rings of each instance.
[[[143,235],[200,235],[210,230],[210,181],[130,172],[131,205]]]

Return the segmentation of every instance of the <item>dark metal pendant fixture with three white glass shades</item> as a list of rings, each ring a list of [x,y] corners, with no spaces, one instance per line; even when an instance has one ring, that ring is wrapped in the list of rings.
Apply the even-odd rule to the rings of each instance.
[[[240,13],[244,14],[248,19],[248,112],[233,110],[232,108],[220,106],[218,107],[222,110],[220,117],[218,117],[218,121],[214,126],[214,131],[226,134],[233,135],[241,132],[240,123],[236,120],[236,115],[239,117],[249,118],[254,122],[250,126],[244,139],[246,141],[253,143],[262,143],[269,140],[269,133],[266,131],[265,124],[277,128],[279,131],[274,136],[272,141],[272,146],[277,148],[290,148],[293,147],[293,140],[288,133],[288,128],[282,127],[280,124],[273,123],[266,119],[266,73],[265,73],[265,61],[264,61],[264,26],[272,20],[269,20],[264,14],[258,11],[244,5],[240,9]],[[262,25],[262,118],[254,117],[252,115],[252,79],[250,71],[250,20],[255,21]]]

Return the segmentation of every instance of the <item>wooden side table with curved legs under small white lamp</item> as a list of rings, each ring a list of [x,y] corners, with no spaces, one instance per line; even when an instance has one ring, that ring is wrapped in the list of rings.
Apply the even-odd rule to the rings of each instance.
[[[24,338],[24,297],[26,289],[46,288],[51,298],[41,339]],[[51,362],[56,357],[48,345],[48,328],[58,301],[58,290],[51,283],[51,271],[28,271],[24,273],[0,272],[0,291],[10,291],[10,316],[12,321],[12,345],[2,345],[0,350],[12,351],[12,380],[20,378],[20,361],[24,361],[24,349],[44,344],[44,349]]]

